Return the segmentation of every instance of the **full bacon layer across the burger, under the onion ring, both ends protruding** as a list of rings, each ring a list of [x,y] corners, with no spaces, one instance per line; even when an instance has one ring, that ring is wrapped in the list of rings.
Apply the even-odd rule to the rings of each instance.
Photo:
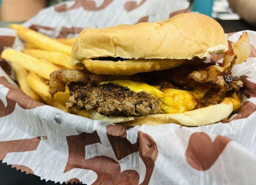
[[[119,75],[102,75],[102,74],[93,74],[83,70],[71,70],[64,69],[54,71],[50,75],[50,88],[49,92],[51,95],[55,94],[58,91],[64,92],[65,86],[70,82],[82,82],[82,83],[97,83],[101,81],[117,80],[117,79],[129,79],[134,81],[146,81],[153,82],[154,76],[157,76],[160,79],[165,80],[163,83],[160,83],[161,86],[173,86],[172,83],[166,83],[166,80],[169,82],[174,82],[180,84],[184,87],[192,87],[198,85],[198,83],[206,83],[213,86],[219,91],[219,89],[226,86],[227,81],[224,79],[224,76],[230,75],[230,70],[234,65],[237,65],[241,62],[244,62],[250,55],[250,39],[247,32],[243,32],[242,36],[236,43],[231,44],[231,49],[224,53],[223,63],[200,63],[197,65],[191,66],[181,66],[173,69],[168,69],[164,71],[156,71],[150,73],[136,74],[132,76],[119,76]],[[151,76],[148,78],[148,76]],[[146,77],[146,78],[145,78]],[[239,80],[236,81],[239,84]],[[240,84],[241,85],[241,84]],[[240,87],[240,85],[238,87]],[[225,89],[229,89],[226,88]]]

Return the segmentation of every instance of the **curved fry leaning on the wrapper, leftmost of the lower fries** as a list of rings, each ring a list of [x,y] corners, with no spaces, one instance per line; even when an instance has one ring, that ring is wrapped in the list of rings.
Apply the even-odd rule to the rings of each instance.
[[[15,71],[21,90],[27,95],[29,95],[30,97],[32,97],[33,99],[35,99],[36,101],[40,101],[41,100],[40,97],[28,85],[28,82],[26,80],[28,73],[26,69],[16,63],[13,63],[13,69]]]

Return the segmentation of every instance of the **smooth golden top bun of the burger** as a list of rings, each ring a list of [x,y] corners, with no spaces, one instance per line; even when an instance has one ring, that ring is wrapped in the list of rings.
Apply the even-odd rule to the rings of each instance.
[[[228,49],[217,21],[199,13],[182,13],[157,23],[86,29],[72,48],[73,63],[96,57],[192,59]]]

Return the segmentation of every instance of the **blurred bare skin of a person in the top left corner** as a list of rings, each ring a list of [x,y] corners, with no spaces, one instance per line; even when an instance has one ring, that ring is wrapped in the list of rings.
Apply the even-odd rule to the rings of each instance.
[[[25,21],[46,6],[46,0],[3,0],[2,21]]]

